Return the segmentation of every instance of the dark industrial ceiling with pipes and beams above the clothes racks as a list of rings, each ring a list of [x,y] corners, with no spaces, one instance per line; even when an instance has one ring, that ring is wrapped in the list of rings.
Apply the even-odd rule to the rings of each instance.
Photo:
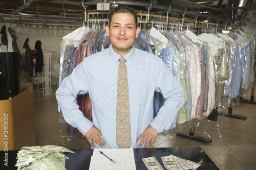
[[[252,6],[252,0],[152,0],[152,1],[90,1],[90,0],[1,0],[0,22],[82,25],[84,11],[98,11],[97,4],[133,6],[138,12],[178,18],[208,19],[209,22],[233,25]],[[168,13],[167,13],[168,12]]]

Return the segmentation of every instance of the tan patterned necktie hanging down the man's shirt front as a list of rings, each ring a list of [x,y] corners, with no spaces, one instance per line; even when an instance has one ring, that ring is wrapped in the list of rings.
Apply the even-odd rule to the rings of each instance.
[[[119,148],[129,148],[131,140],[129,89],[125,58],[119,59],[117,78],[116,143]]]

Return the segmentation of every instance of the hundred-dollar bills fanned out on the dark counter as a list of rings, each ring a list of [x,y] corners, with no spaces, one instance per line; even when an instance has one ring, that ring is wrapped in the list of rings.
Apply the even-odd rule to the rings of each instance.
[[[163,164],[166,169],[172,169],[172,170],[188,170],[188,169],[197,169],[200,164],[179,158],[174,155],[169,155],[169,156],[163,156],[161,157]],[[163,167],[160,165],[160,163],[157,161],[157,159],[153,157],[148,157],[148,158],[142,158],[143,162],[145,163],[147,169],[149,170],[164,170]]]

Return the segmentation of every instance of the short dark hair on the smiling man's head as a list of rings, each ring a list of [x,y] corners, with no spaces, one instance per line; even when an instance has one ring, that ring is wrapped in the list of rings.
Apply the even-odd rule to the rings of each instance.
[[[138,23],[138,14],[136,12],[136,10],[133,7],[127,6],[127,5],[118,5],[117,7],[114,7],[110,10],[109,13],[109,25],[111,23],[112,17],[114,14],[117,13],[129,13],[132,14],[134,17],[134,21],[135,21],[135,26],[137,27],[137,23]]]

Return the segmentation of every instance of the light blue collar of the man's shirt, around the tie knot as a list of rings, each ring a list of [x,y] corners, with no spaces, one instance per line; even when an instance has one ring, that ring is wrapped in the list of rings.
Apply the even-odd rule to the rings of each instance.
[[[114,64],[116,64],[119,61],[121,56],[114,51],[112,44],[110,44],[109,49],[110,49],[109,50],[110,57],[111,57],[112,61],[114,62]],[[131,51],[129,53],[127,53],[125,56],[123,56],[129,65],[131,65],[131,63],[134,59],[134,54],[135,54],[135,47],[133,45],[133,48],[131,49]]]

